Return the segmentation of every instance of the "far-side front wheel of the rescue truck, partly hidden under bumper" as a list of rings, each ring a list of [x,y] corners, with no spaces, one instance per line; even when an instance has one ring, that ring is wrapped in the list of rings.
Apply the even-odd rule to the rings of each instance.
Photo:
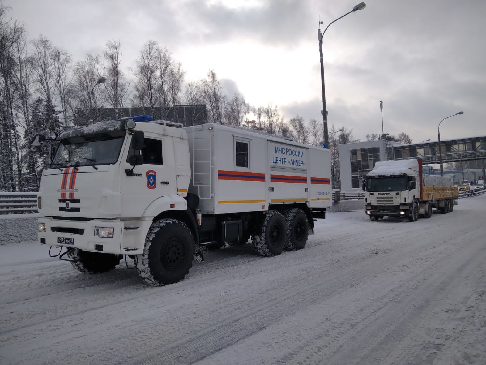
[[[83,251],[79,248],[69,250],[68,257],[74,261],[71,265],[81,273],[99,274],[115,269],[123,255],[104,254],[101,252]]]

